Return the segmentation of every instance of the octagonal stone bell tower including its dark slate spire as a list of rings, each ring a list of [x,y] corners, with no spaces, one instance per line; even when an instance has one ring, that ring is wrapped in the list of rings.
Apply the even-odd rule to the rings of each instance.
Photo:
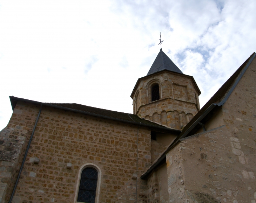
[[[200,94],[194,78],[184,75],[160,49],[147,76],[133,89],[133,113],[181,130],[200,110]]]

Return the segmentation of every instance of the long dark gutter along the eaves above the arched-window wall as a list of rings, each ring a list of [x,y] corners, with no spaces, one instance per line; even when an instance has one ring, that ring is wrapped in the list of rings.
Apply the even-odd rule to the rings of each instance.
[[[100,117],[100,118],[106,118],[106,119],[110,119],[110,120],[122,121],[122,122],[125,122],[125,123],[140,125],[140,123],[135,122],[135,121],[133,122],[133,121],[122,120],[122,119],[108,117],[108,116],[102,116],[102,115],[96,114],[96,113],[90,113],[90,112],[86,112],[86,111],[70,109],[70,108],[63,107],[63,106],[57,106],[57,105],[54,105],[54,104],[36,102],[36,101],[33,101],[33,100],[29,100],[29,99],[22,99],[22,98],[17,98],[17,97],[13,97],[13,96],[12,97],[9,96],[9,97],[10,97],[10,100],[11,100],[11,105],[12,105],[13,110],[15,108],[14,100],[18,100],[18,101],[30,102],[30,103],[34,103],[34,104],[43,104],[44,106],[49,106],[49,107],[54,107],[54,108],[57,108],[57,109],[63,109],[63,110],[67,110],[67,111],[74,111],[74,112],[78,112],[78,113],[88,114],[90,116],[96,116],[96,117]],[[173,132],[175,134],[178,134],[178,133],[181,132],[180,130],[170,129],[170,128],[167,128],[167,127],[153,126],[153,125],[148,125],[148,124],[143,124],[143,123],[141,123],[141,125],[149,127],[149,128],[157,128],[157,129],[161,129],[161,130],[164,130],[164,131]]]

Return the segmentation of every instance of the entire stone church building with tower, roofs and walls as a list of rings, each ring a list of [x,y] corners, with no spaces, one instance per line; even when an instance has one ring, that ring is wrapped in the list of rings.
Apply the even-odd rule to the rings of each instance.
[[[133,114],[10,96],[0,203],[256,203],[256,53],[200,109],[160,50]]]

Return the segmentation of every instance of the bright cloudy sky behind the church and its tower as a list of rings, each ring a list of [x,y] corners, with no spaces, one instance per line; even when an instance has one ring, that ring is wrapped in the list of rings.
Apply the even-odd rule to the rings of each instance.
[[[0,128],[12,95],[131,113],[160,32],[203,106],[255,51],[255,9],[254,0],[1,1]]]

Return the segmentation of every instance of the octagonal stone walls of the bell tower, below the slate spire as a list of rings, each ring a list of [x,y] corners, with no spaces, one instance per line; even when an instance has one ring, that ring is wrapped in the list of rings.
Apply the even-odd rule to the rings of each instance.
[[[155,83],[159,84],[160,100],[151,102],[151,85]],[[134,113],[178,130],[187,125],[200,108],[191,78],[170,72],[142,79],[133,100]]]

